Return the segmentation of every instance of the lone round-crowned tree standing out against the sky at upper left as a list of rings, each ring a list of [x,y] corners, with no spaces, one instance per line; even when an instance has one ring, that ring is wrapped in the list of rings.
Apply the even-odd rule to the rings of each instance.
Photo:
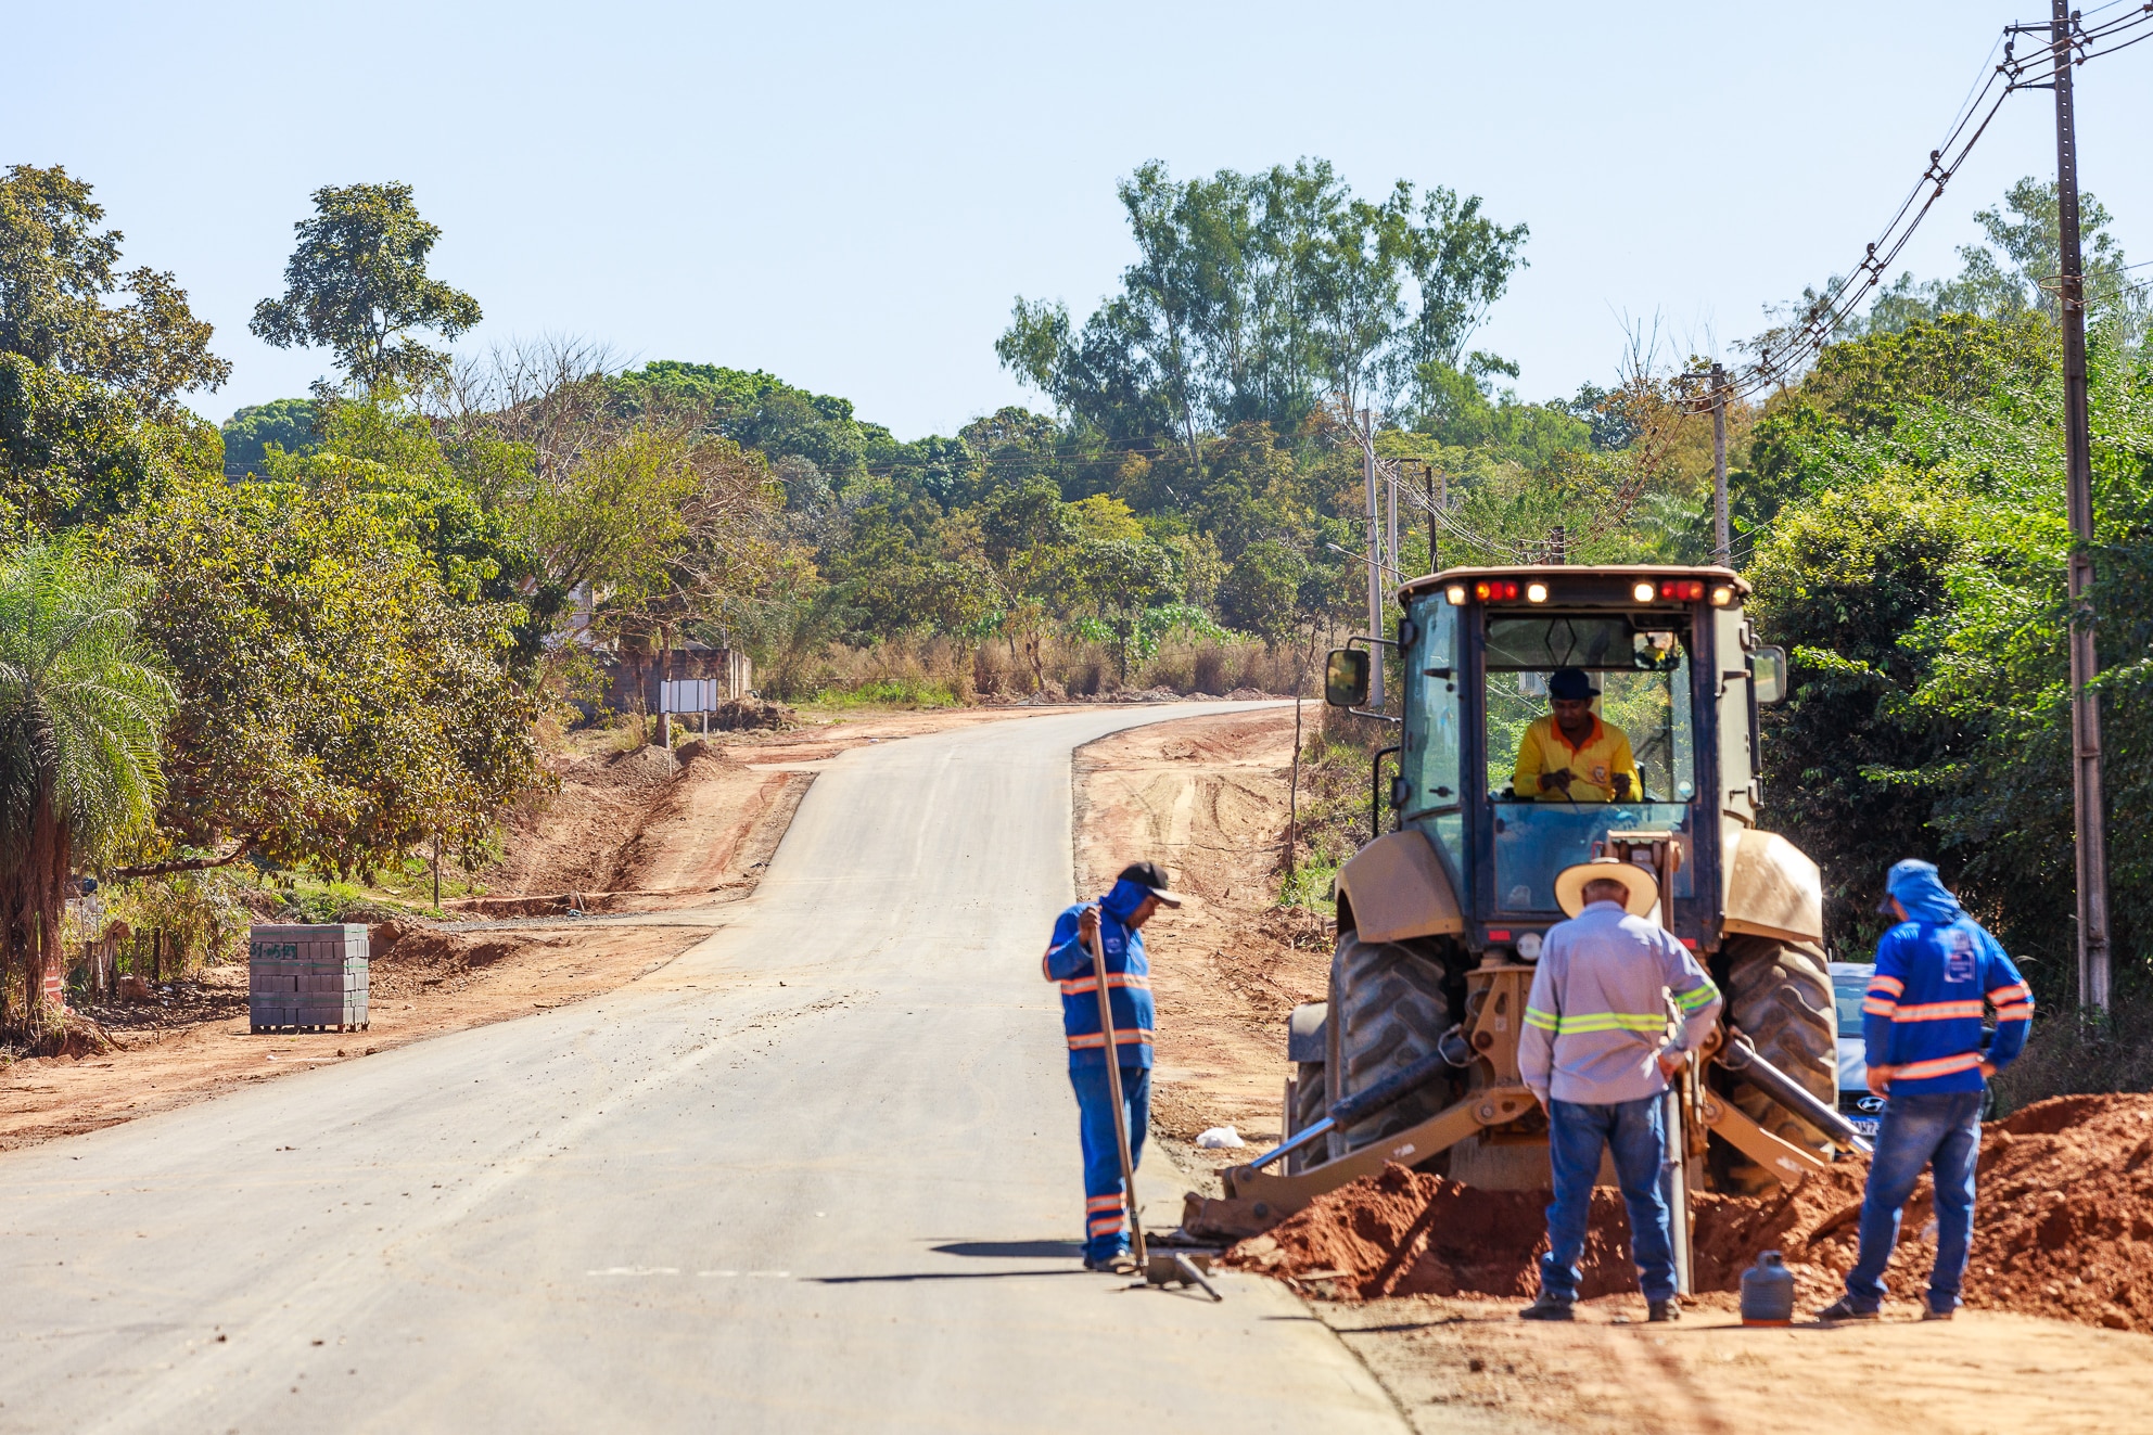
[[[314,217],[293,226],[284,297],[254,306],[248,329],[278,349],[329,349],[362,387],[416,387],[448,370],[448,355],[411,338],[454,340],[480,321],[478,299],[426,273],[441,228],[420,217],[411,185],[323,185]]]

